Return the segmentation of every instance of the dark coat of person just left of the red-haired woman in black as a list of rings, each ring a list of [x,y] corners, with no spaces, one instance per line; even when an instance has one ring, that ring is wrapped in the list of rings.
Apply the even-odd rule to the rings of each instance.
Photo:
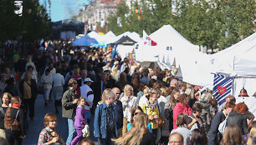
[[[215,117],[213,117],[210,131],[208,133],[208,145],[216,145],[217,142],[217,134],[218,134],[218,126],[221,122],[225,120],[226,116],[223,112],[218,112]]]

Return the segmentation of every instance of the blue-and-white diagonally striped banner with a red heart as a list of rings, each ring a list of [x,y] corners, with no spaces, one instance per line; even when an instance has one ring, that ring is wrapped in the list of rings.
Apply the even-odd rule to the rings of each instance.
[[[232,94],[233,78],[227,78],[221,74],[214,74],[213,97],[219,105],[225,102],[225,97]]]

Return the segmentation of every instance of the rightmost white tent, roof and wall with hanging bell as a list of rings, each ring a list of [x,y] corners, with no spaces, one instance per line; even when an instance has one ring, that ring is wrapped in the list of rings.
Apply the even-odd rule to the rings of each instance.
[[[256,32],[243,39],[241,42],[212,55],[215,72],[228,73],[231,76],[240,76],[233,79],[233,96],[238,102],[245,102],[250,112],[256,115]],[[249,97],[238,97],[244,87]]]

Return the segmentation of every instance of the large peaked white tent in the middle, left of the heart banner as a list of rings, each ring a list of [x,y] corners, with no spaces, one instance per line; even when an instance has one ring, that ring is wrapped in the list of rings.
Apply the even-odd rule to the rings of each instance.
[[[157,45],[140,43],[136,49],[137,61],[163,62],[171,66],[175,59],[176,67],[181,68],[184,82],[212,86],[210,57],[199,52],[199,46],[188,42],[170,25],[161,27],[149,37]]]

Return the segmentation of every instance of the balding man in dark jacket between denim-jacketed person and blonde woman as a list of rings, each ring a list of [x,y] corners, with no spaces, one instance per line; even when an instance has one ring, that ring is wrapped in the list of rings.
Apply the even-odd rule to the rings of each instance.
[[[123,118],[124,118],[124,112],[123,112],[123,106],[122,102],[120,102],[120,89],[118,87],[112,88],[112,92],[115,93],[115,122],[118,132],[118,138],[122,136],[122,128],[123,128]]]

